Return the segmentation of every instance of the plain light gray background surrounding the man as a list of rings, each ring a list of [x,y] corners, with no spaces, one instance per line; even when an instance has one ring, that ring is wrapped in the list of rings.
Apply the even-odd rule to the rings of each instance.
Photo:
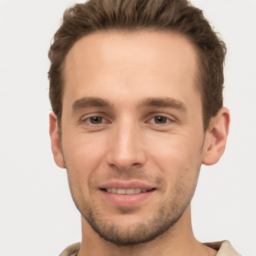
[[[256,1],[193,0],[228,53],[226,151],[202,166],[192,201],[200,241],[256,255]],[[58,255],[80,241],[80,216],[48,136],[47,50],[73,0],[0,0],[0,255]]]

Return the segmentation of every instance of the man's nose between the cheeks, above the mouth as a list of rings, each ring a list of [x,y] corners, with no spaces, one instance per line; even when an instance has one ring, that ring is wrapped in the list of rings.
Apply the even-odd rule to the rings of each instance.
[[[146,156],[141,133],[134,123],[125,123],[113,129],[110,140],[107,157],[110,166],[127,170],[144,165]]]

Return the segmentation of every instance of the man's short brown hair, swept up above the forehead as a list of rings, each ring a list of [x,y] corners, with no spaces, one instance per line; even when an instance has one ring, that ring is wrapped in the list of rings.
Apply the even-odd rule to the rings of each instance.
[[[185,36],[198,53],[198,90],[203,127],[222,107],[224,42],[188,0],[89,0],[66,9],[54,34],[50,59],[49,98],[61,127],[63,63],[68,50],[82,36],[100,30],[170,31]]]

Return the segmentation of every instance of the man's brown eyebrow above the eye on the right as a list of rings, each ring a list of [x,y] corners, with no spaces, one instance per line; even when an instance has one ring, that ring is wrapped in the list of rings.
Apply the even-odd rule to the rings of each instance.
[[[169,108],[176,108],[179,110],[182,110],[184,112],[187,111],[187,108],[185,104],[179,100],[170,98],[170,97],[149,97],[142,99],[138,104],[137,108],[142,108],[142,107],[169,107]]]

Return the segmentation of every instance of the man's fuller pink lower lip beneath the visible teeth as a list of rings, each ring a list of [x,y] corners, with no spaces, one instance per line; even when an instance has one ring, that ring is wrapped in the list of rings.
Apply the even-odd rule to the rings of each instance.
[[[138,205],[139,203],[142,203],[155,192],[155,189],[152,189],[147,192],[137,193],[137,194],[117,194],[117,193],[115,194],[115,193],[106,192],[103,189],[101,189],[100,191],[102,192],[104,199],[106,199],[107,201],[117,206],[128,207],[128,206],[135,206],[135,205]]]

